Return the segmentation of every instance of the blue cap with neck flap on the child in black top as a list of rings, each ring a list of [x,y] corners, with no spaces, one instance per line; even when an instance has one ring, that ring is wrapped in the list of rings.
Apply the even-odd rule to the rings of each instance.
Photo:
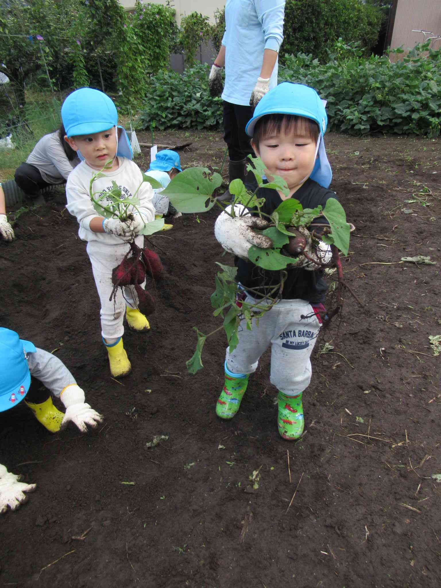
[[[323,188],[328,188],[332,180],[332,170],[326,156],[323,135],[328,125],[328,116],[325,110],[326,101],[323,101],[315,89],[301,83],[282,82],[263,96],[245,127],[245,132],[252,137],[256,122],[262,116],[271,114],[287,114],[304,116],[315,121],[320,130],[318,139],[318,158],[310,174],[310,179],[319,183]]]

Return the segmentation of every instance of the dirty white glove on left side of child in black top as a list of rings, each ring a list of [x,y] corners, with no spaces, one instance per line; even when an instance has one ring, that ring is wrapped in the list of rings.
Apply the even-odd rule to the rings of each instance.
[[[231,211],[231,206],[225,209]],[[239,216],[240,212],[246,211],[242,204],[234,206],[235,218],[231,218],[226,212],[220,213],[215,222],[215,237],[222,245],[223,249],[229,253],[234,253],[242,259],[248,260],[248,249],[252,245],[269,249],[273,242],[265,235],[259,235],[252,229],[268,228],[268,221],[258,216]]]

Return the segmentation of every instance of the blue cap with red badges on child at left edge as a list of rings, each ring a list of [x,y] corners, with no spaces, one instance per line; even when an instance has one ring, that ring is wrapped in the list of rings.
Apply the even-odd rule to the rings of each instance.
[[[0,412],[18,405],[31,385],[26,353],[35,353],[35,345],[20,339],[10,329],[0,328]]]

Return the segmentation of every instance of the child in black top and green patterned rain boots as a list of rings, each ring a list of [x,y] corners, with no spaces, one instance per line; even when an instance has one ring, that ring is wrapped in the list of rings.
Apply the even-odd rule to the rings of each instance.
[[[263,198],[262,212],[270,215],[287,198],[297,199],[303,208],[325,207],[329,198],[336,198],[328,189],[332,172],[326,157],[323,134],[328,118],[318,94],[308,86],[283,82],[260,100],[254,116],[246,125],[252,137],[251,145],[266,167],[271,181],[274,175],[287,183],[289,194],[270,188],[256,193]],[[252,186],[256,189],[257,185]],[[230,207],[227,208],[227,211]],[[236,205],[236,213],[243,210]],[[265,217],[266,218],[266,217]],[[324,216],[313,223],[326,224]],[[264,270],[248,259],[251,245],[271,247],[268,237],[256,235],[252,228],[266,228],[268,223],[253,216],[231,218],[222,212],[215,223],[216,239],[224,249],[235,253],[238,268],[236,279],[247,288],[247,302],[266,304],[257,292],[268,295],[280,282],[279,272]],[[330,248],[320,242],[312,245],[308,230],[305,252],[312,259],[328,263]],[[256,243],[256,237],[266,240]],[[317,250],[319,249],[319,251]],[[304,419],[302,394],[311,378],[310,355],[318,336],[322,316],[326,283],[323,272],[306,257],[299,256],[287,268],[288,277],[283,285],[282,299],[259,319],[253,321],[252,330],[246,320],[238,329],[239,344],[225,359],[225,385],[216,404],[216,413],[222,419],[232,419],[239,410],[248,384],[248,377],[258,367],[260,356],[271,348],[270,381],[278,393],[278,429],[283,439],[295,440],[303,433]]]

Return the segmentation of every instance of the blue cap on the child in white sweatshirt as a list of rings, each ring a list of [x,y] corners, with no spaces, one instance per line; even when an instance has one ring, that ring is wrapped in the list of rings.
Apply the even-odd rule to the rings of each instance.
[[[125,129],[118,125],[118,111],[105,93],[93,88],[80,88],[69,94],[61,107],[61,120],[66,136],[92,135],[112,127],[121,129],[117,135],[116,155],[133,158],[132,147]],[[83,160],[81,152],[78,156]]]

